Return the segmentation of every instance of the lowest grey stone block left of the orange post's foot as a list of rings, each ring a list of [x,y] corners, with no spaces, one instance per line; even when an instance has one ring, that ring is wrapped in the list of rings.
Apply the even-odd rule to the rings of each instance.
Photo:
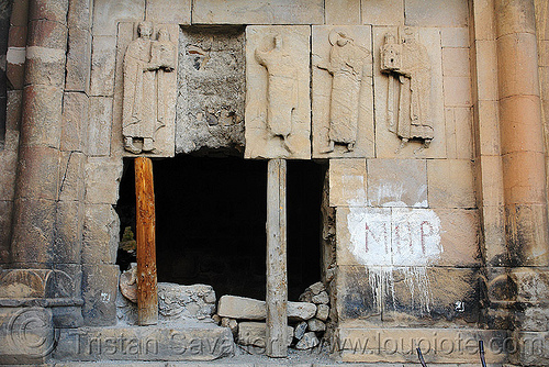
[[[119,274],[117,265],[82,265],[82,316],[86,325],[108,326],[116,323]]]

